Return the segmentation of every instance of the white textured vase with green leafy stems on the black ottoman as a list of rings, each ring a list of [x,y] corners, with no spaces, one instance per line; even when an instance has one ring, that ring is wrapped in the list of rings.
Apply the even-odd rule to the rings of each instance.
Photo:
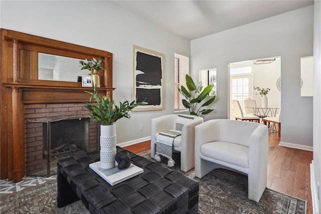
[[[101,168],[110,169],[115,166],[116,155],[116,125],[115,122],[121,118],[130,118],[129,112],[137,105],[144,105],[147,102],[119,102],[117,106],[114,100],[105,95],[98,95],[96,86],[93,91],[86,91],[91,95],[89,102],[86,102],[86,109],[94,122],[100,124],[100,163]]]

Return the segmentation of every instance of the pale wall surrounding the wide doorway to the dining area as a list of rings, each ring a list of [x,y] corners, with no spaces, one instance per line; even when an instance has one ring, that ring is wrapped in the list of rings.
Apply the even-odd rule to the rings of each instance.
[[[281,57],[281,142],[312,148],[312,98],[300,96],[300,57],[312,55],[313,6],[191,42],[192,77],[217,68],[218,99],[210,118],[227,118],[231,62]]]

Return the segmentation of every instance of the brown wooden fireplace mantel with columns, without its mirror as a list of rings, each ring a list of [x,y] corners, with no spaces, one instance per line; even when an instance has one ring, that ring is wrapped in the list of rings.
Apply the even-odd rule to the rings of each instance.
[[[100,56],[97,90],[112,99],[112,53],[1,29],[1,179],[20,182],[25,176],[25,104],[86,102],[90,94],[85,91],[93,90],[81,82],[39,80],[39,52],[77,59]]]

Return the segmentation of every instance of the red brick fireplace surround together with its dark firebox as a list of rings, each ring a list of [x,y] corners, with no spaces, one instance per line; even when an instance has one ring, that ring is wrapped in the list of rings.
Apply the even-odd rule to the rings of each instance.
[[[89,111],[85,103],[48,103],[48,104],[25,104],[25,166],[27,175],[50,176],[57,167],[57,161],[74,154],[82,154],[96,151],[98,148],[98,126],[92,119],[86,119]],[[81,120],[87,130],[69,129],[69,133],[52,133],[57,138],[70,138],[74,134],[82,135],[84,145],[75,145],[73,139],[63,142],[61,145],[53,145],[51,151],[47,151],[47,124],[60,123],[71,120]],[[68,122],[67,122],[68,123]],[[70,122],[69,122],[70,123]],[[79,122],[77,122],[79,123]],[[53,127],[53,126],[50,126]],[[75,127],[76,128],[76,127]],[[78,127],[79,128],[79,127]],[[75,133],[70,133],[75,132]],[[58,143],[59,144],[59,143]],[[66,150],[65,148],[68,147]],[[69,148],[71,147],[71,149]],[[59,154],[59,155],[57,155]]]

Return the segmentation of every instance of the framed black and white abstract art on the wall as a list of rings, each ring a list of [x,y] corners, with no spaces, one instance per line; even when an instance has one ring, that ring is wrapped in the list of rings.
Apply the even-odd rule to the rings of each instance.
[[[133,111],[164,109],[164,54],[133,45],[133,99],[146,101]]]

